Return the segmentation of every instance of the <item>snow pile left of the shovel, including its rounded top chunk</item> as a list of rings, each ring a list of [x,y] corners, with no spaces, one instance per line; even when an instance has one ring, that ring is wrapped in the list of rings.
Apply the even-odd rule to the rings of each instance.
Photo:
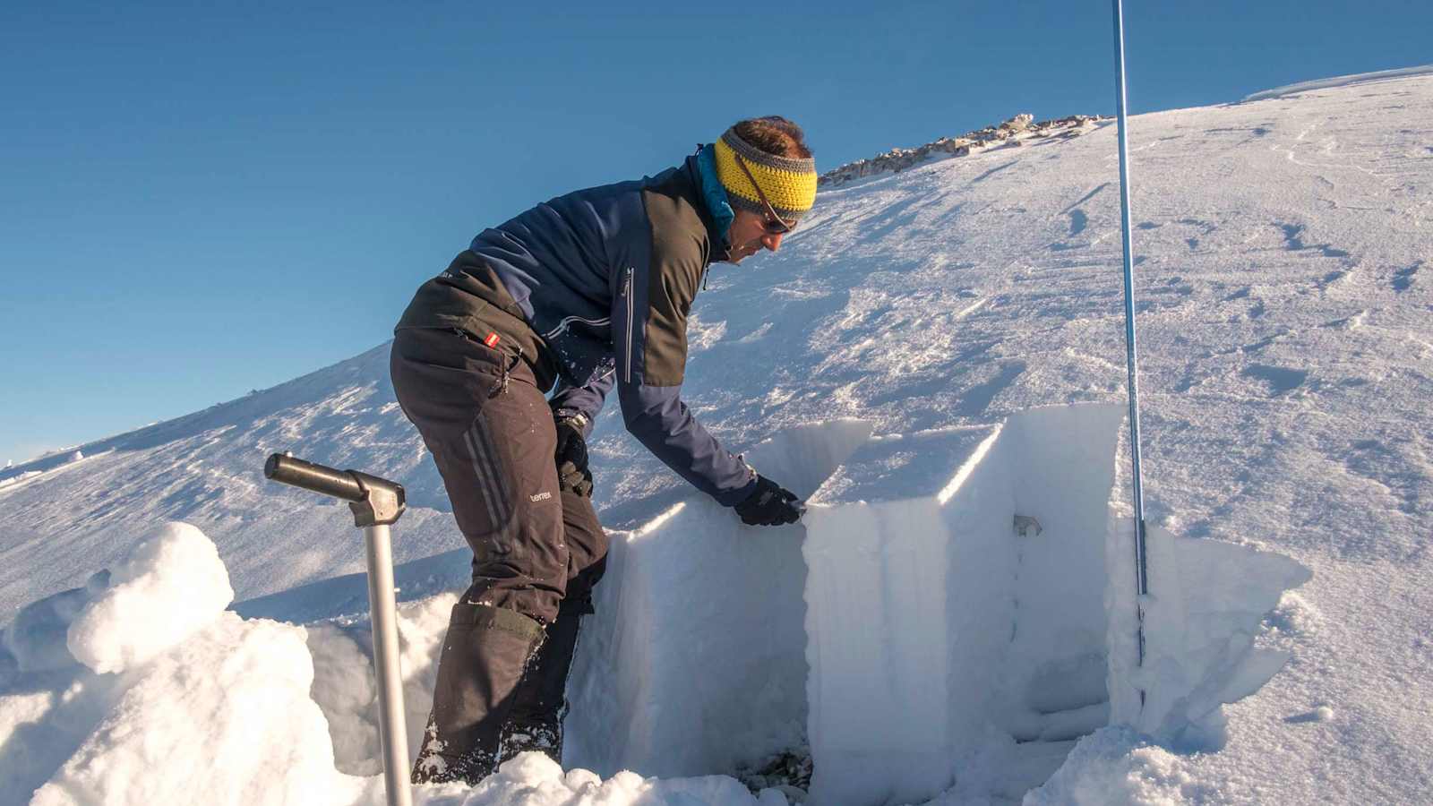
[[[0,741],[6,800],[40,783],[44,806],[337,803],[371,786],[334,769],[304,628],[225,612],[199,529],[168,523],[92,581],[6,630],[0,711],[21,714]]]

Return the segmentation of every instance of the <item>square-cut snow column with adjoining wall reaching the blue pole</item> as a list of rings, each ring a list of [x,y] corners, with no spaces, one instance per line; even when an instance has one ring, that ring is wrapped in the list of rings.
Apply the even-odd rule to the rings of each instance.
[[[813,802],[920,802],[990,726],[1037,739],[1103,717],[1121,422],[1060,406],[871,439],[821,486],[804,544]],[[1023,535],[1016,516],[1033,518]]]

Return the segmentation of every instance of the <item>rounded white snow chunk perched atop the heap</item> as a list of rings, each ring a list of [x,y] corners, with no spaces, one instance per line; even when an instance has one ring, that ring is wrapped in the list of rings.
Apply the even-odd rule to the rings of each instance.
[[[214,621],[234,601],[229,572],[199,529],[166,523],[112,572],[69,628],[69,651],[99,673],[142,664]]]

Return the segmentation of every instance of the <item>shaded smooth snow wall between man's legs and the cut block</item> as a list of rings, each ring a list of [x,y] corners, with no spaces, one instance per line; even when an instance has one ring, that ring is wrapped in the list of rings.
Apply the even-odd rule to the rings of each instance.
[[[861,420],[813,423],[747,459],[805,498],[870,433]],[[805,534],[801,523],[744,526],[694,495],[615,536],[573,665],[565,763],[602,774],[729,773],[800,744]]]

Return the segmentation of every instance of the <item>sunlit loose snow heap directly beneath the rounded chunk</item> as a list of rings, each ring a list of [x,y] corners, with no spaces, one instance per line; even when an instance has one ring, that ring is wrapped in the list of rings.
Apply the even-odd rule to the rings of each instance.
[[[334,769],[312,677],[302,627],[221,614],[136,674],[32,803],[354,803],[378,779]]]

